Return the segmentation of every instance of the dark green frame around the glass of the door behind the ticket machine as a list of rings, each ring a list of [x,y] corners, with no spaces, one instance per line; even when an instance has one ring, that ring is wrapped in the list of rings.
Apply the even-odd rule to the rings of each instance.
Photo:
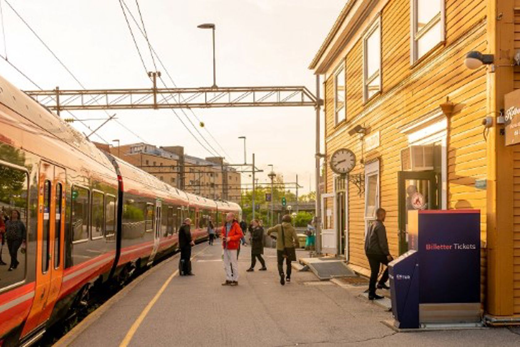
[[[397,195],[398,195],[398,226],[399,226],[399,255],[408,251],[406,241],[406,187],[407,179],[418,179],[430,181],[428,191],[428,210],[437,210],[440,203],[440,174],[435,171],[399,171],[397,172]],[[431,197],[436,197],[432,199]]]

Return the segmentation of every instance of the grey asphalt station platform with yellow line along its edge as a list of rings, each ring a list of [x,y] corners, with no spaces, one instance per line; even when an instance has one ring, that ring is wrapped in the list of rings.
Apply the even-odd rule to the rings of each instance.
[[[134,280],[57,346],[426,347],[471,341],[520,345],[520,336],[506,328],[398,333],[382,324],[392,318],[390,313],[359,297],[365,287],[342,287],[320,281],[311,272],[296,271],[292,282],[281,286],[276,251],[265,249],[268,271],[245,272],[250,250],[245,247],[240,253],[237,287],[220,285],[225,279],[220,245],[194,247],[195,276],[176,275],[175,255]],[[298,253],[299,257],[308,254]]]

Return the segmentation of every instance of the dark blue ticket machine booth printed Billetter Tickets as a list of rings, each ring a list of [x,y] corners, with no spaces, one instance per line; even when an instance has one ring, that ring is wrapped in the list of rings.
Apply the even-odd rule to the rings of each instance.
[[[413,298],[417,291],[418,307],[407,305],[403,310],[418,310],[419,326],[480,324],[480,211],[408,211],[408,240],[412,251],[389,264],[396,310],[402,291],[407,290],[396,278],[398,271],[416,261],[412,278],[417,279],[417,287],[412,281],[406,295]],[[401,317],[410,315],[396,311],[396,326],[401,325]]]

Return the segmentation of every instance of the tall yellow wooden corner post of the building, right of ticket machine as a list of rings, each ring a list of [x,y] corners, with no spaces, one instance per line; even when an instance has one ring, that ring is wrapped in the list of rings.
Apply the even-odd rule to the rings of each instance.
[[[488,67],[487,114],[493,117],[487,140],[487,298],[486,311],[513,315],[513,154],[497,125],[504,94],[513,91],[514,2],[488,3],[488,51],[495,55],[495,72]],[[500,66],[506,65],[506,66]],[[499,67],[500,66],[500,67]]]

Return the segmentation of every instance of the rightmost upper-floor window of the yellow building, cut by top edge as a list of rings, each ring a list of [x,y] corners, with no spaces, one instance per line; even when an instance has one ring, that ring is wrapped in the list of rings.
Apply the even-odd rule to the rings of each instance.
[[[412,64],[444,41],[444,0],[412,0]]]

